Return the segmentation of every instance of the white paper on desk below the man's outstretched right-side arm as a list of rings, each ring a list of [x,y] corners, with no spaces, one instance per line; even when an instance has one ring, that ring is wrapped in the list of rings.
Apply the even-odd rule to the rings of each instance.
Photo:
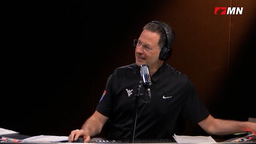
[[[217,143],[211,136],[178,136],[174,134],[173,138],[177,143]]]

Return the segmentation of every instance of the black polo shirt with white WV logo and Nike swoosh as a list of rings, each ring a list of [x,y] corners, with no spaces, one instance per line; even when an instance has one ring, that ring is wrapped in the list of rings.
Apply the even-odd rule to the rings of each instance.
[[[122,66],[109,76],[106,90],[96,110],[109,117],[108,138],[129,138],[140,68]],[[151,100],[142,86],[138,104],[135,138],[171,138],[176,133],[180,116],[191,122],[204,120],[209,112],[198,97],[188,76],[166,62],[151,76]],[[143,102],[144,101],[144,102]]]

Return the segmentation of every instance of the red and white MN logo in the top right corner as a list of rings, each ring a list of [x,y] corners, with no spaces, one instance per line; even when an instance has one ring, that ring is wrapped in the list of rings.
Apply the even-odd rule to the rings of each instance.
[[[215,15],[242,14],[244,7],[215,7]]]

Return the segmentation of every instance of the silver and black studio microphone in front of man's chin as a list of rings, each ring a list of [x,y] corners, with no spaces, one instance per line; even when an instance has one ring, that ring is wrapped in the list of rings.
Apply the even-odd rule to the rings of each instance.
[[[142,81],[143,81],[143,86],[148,91],[149,98],[151,98],[150,86],[151,86],[152,82],[150,80],[150,74],[149,74],[147,64],[142,64],[140,66],[140,75],[141,75],[141,78],[142,78]]]

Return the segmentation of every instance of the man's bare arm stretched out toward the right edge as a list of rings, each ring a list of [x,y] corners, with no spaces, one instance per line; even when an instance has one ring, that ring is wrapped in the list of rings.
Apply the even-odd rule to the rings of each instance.
[[[198,122],[199,126],[204,129],[208,134],[214,135],[228,135],[237,132],[252,131],[256,134],[256,123],[242,122],[236,120],[222,120],[216,119],[209,115],[207,118]]]

